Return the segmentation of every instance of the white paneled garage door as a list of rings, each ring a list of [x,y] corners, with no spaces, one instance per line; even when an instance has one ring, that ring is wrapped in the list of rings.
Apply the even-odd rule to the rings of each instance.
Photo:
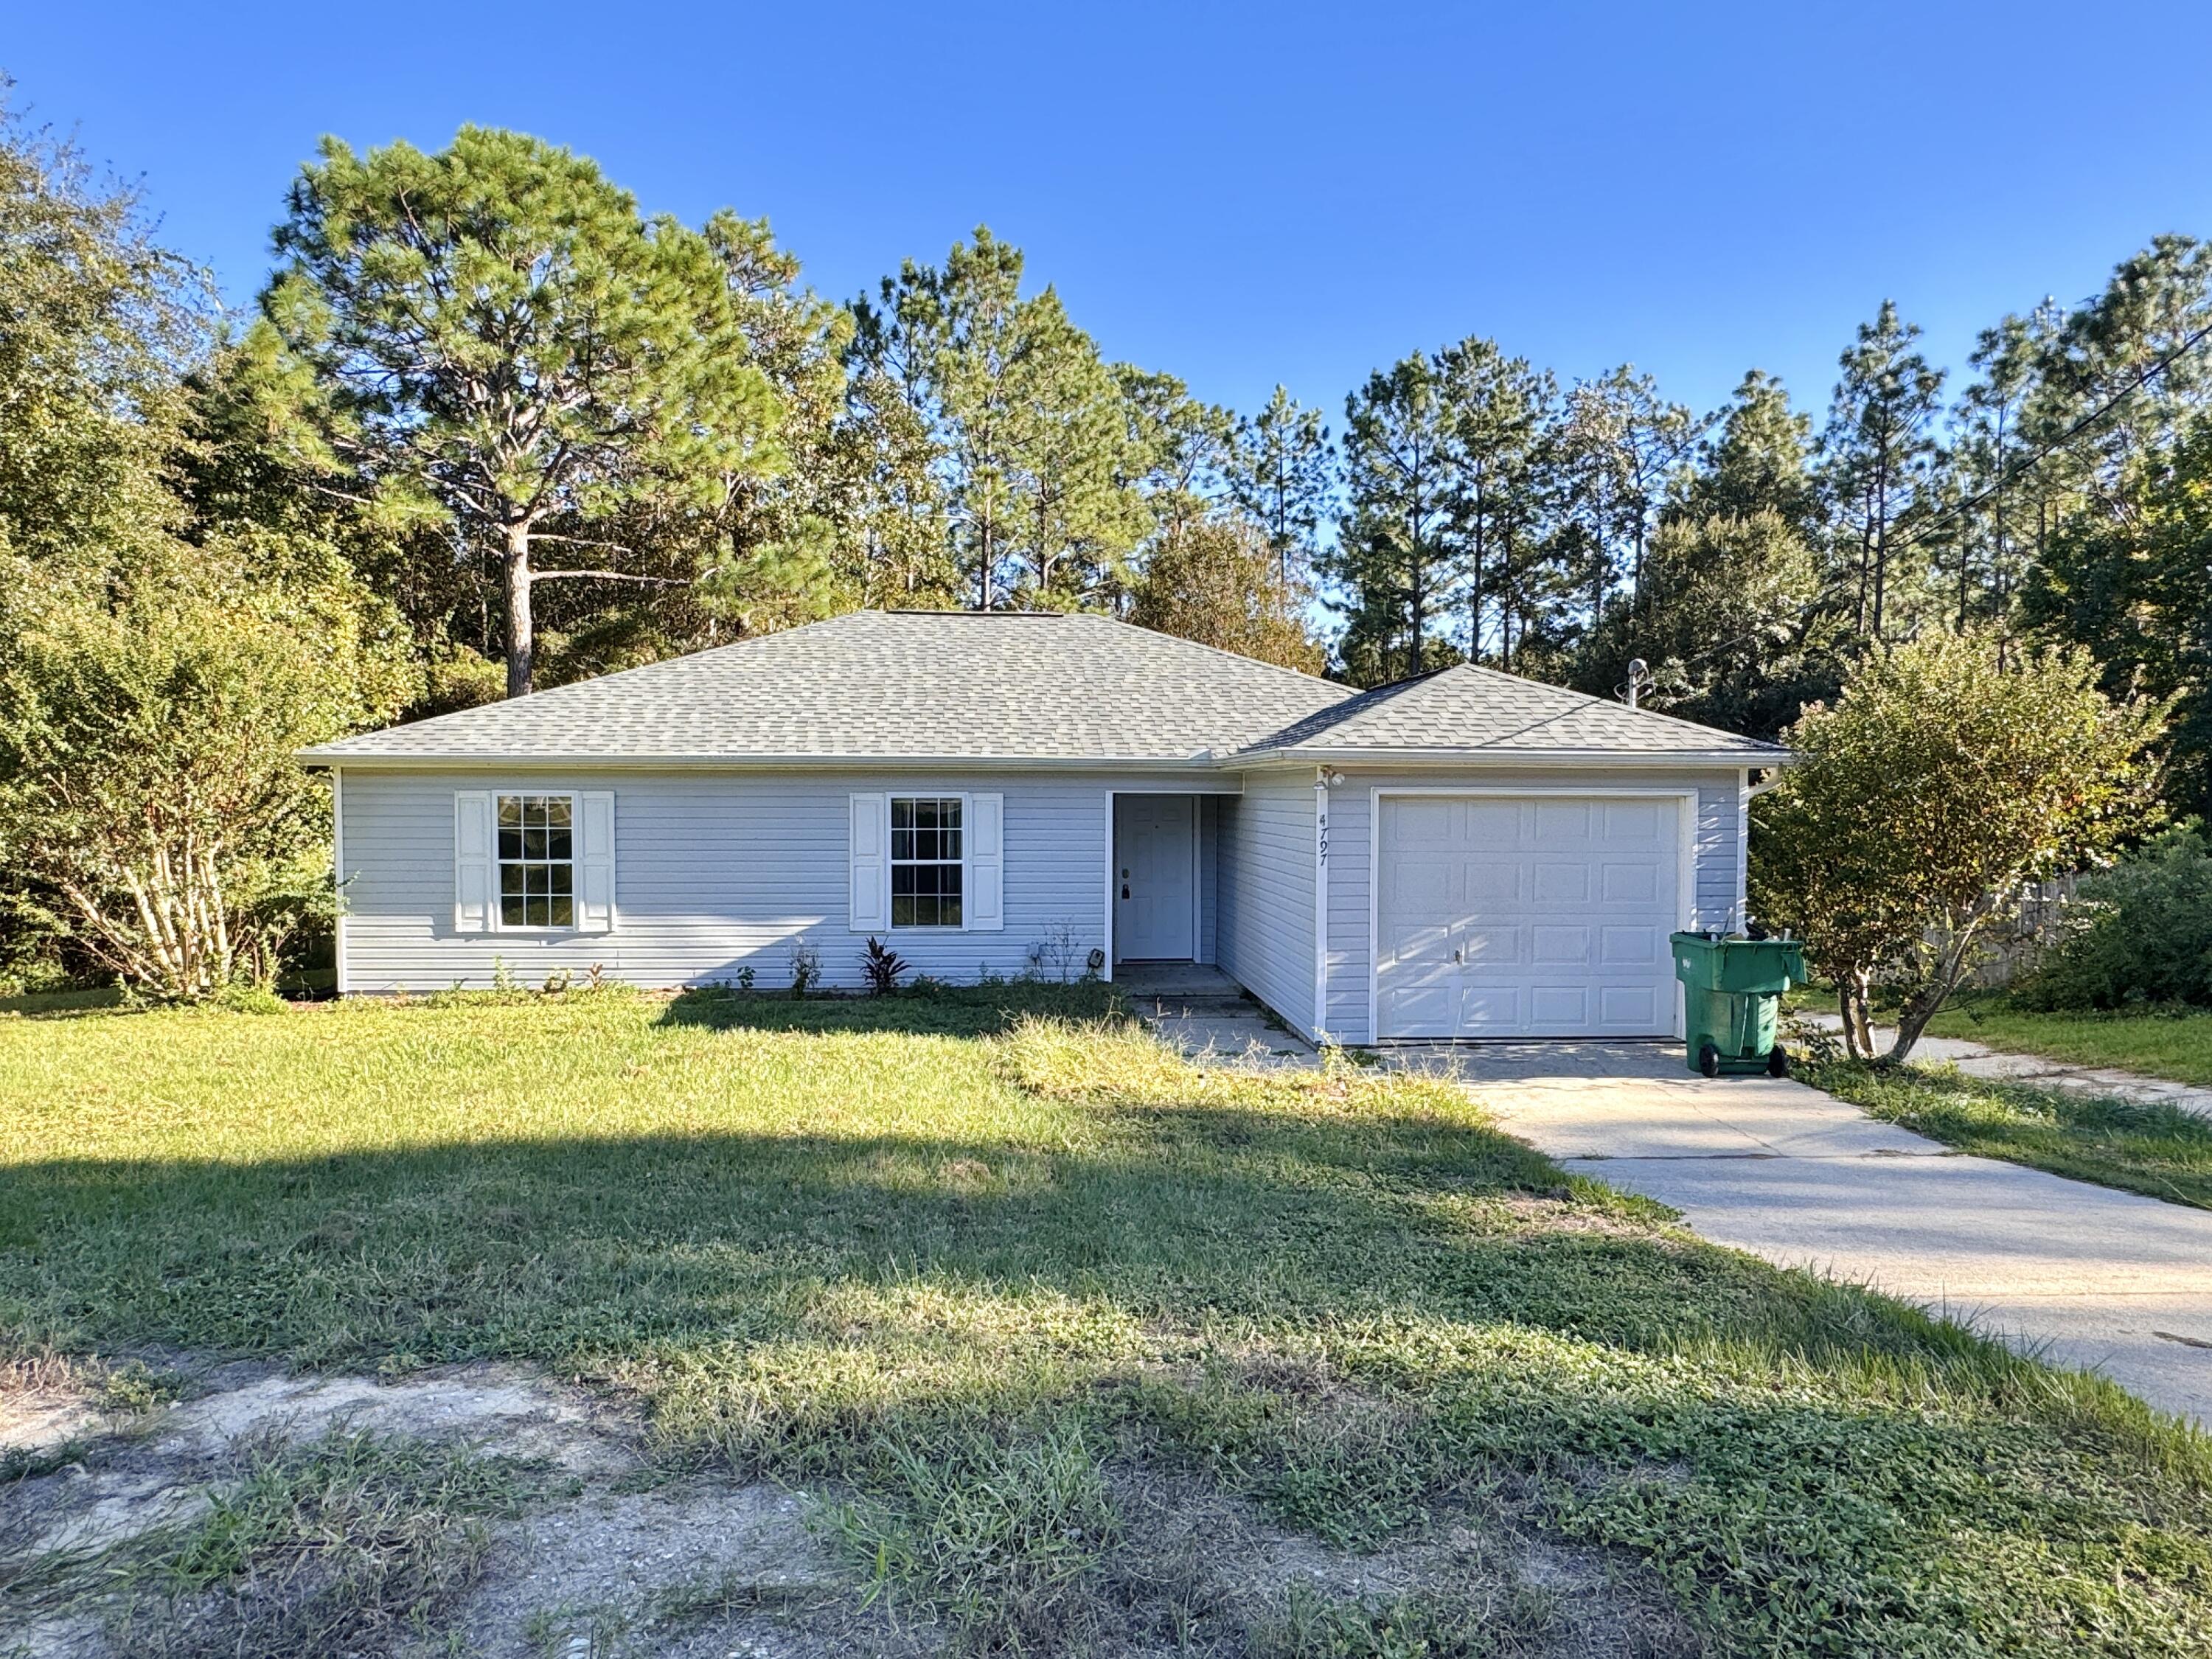
[[[1378,1037],[1674,1029],[1677,799],[1383,796]]]

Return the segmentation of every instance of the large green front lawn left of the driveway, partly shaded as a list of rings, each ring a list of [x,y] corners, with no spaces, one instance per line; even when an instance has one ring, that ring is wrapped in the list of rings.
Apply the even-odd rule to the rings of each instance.
[[[670,1460],[830,1491],[971,1648],[1137,1630],[1126,1491],[1194,1482],[1343,1548],[1593,1546],[1714,1652],[2212,1650],[2203,1436],[1703,1245],[1455,1088],[1197,1073],[1095,989],[0,1020],[0,1166],[18,1352],[628,1389]],[[1524,1650],[1464,1606],[1245,1646]]]

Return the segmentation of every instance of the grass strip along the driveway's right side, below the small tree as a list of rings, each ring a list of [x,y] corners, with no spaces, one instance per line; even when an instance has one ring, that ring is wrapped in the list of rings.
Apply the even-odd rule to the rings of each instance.
[[[2212,1119],[1966,1077],[1953,1066],[1801,1066],[1805,1082],[1889,1124],[1980,1157],[2212,1210]]]

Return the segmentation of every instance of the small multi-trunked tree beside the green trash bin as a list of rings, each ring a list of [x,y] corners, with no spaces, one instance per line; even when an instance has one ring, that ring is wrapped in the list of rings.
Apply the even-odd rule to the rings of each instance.
[[[1798,763],[1759,803],[1752,900],[1836,982],[1845,1046],[1874,1057],[1871,995],[1902,995],[1905,1060],[2026,883],[2152,810],[2166,706],[2115,701],[2088,653],[1997,666],[1993,635],[1933,635],[1860,664],[1790,730]]]

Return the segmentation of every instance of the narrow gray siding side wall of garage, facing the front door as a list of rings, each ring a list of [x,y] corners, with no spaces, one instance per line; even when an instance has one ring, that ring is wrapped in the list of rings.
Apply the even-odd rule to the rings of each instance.
[[[1245,772],[1219,803],[1221,969],[1314,1035],[1314,770]]]

